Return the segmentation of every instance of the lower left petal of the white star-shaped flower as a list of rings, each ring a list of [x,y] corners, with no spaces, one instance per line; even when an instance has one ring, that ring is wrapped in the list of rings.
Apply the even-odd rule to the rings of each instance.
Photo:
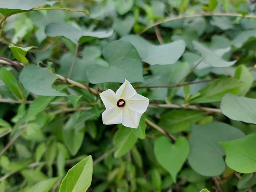
[[[122,109],[117,106],[106,109],[102,113],[102,121],[105,125],[122,123]]]

